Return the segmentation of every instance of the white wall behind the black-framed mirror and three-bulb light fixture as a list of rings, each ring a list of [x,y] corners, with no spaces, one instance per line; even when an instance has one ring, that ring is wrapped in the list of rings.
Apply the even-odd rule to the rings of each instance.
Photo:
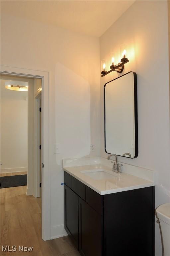
[[[167,1],[136,1],[100,38],[101,59],[110,51],[120,58],[120,44],[127,43],[129,63],[122,74],[137,73],[138,142],[136,159],[119,161],[153,169],[157,174],[155,206],[170,199],[169,66]],[[113,48],[113,50],[112,50]],[[118,77],[101,78],[101,156],[104,152],[103,86]],[[156,255],[161,254],[156,224]]]

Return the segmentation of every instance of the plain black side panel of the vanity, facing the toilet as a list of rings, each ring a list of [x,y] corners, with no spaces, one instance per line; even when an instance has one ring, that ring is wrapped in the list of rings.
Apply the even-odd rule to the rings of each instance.
[[[154,187],[104,195],[105,256],[154,256]]]

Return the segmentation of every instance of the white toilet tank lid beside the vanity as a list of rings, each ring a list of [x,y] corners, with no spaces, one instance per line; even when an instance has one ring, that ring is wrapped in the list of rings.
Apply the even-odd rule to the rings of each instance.
[[[170,225],[170,204],[162,204],[156,208],[156,217]]]

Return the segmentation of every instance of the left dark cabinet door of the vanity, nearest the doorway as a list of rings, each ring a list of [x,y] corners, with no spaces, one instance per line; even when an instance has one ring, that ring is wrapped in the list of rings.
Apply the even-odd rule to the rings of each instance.
[[[78,195],[64,185],[64,227],[78,249]]]

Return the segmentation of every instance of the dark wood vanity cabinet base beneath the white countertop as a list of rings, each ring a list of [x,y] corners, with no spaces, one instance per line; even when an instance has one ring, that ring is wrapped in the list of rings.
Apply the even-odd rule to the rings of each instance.
[[[64,172],[65,229],[82,256],[154,256],[154,187],[100,195]]]

